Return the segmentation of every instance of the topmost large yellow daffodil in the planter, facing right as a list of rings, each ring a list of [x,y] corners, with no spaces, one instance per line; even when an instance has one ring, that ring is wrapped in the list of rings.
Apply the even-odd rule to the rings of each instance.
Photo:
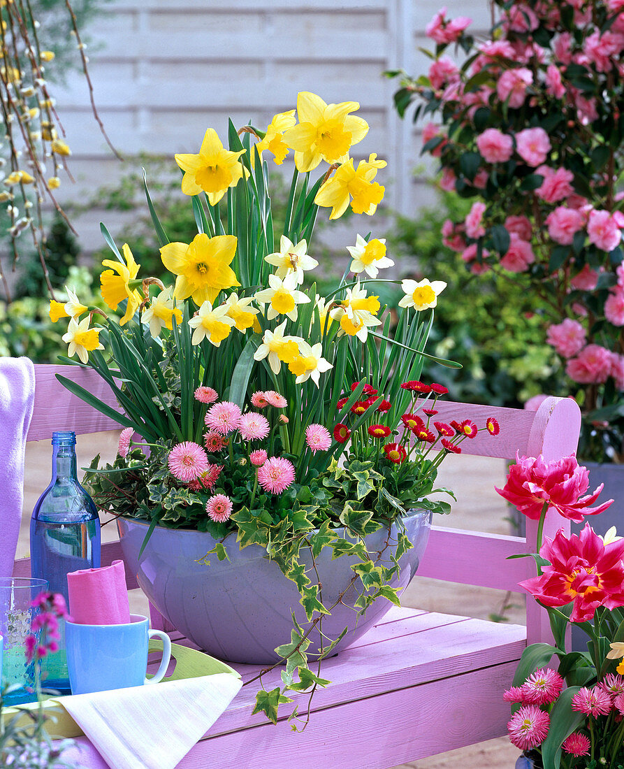
[[[344,163],[350,148],[368,133],[368,123],[355,112],[357,102],[326,104],[320,96],[302,91],[297,95],[299,125],[284,131],[284,141],[295,151],[299,171],[312,171],[321,160]]]

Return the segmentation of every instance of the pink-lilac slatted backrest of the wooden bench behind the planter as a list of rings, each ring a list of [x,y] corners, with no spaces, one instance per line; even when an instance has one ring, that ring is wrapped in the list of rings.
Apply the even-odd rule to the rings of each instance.
[[[35,407],[28,441],[49,439],[53,430],[60,429],[73,430],[79,435],[120,429],[117,422],[64,388],[55,377],[57,373],[78,382],[118,410],[108,384],[95,371],[68,365],[35,365]],[[576,451],[581,415],[578,405],[570,398],[546,398],[538,411],[450,401],[438,401],[436,408],[437,418],[446,422],[467,417],[479,425],[485,424],[489,417],[499,421],[501,431],[496,438],[482,432],[472,440],[463,441],[465,454],[513,459],[517,451],[520,456],[543,454],[548,460]],[[506,560],[509,555],[526,553],[535,547],[536,521],[527,520],[526,524],[526,538],[433,527],[418,574],[461,584],[516,590],[520,580],[534,574],[532,558]],[[569,521],[549,513],[544,533],[552,537],[559,528],[569,534]],[[102,548],[102,563],[111,563],[115,558],[121,558],[119,544],[106,544]],[[29,570],[28,559],[15,564],[15,574],[29,574]],[[136,587],[134,574],[127,576],[128,587]],[[549,638],[546,612],[534,601],[527,601],[527,637],[529,643]]]

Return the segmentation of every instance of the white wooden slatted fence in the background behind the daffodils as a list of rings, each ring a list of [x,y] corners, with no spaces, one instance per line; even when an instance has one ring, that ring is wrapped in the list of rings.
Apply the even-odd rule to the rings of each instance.
[[[89,66],[101,118],[130,159],[112,157],[85,82],[71,75],[58,105],[77,183],[64,184],[59,197],[80,199],[85,189],[115,180],[136,165],[131,156],[139,151],[169,155],[172,163],[174,152],[196,152],[207,126],[225,136],[227,115],[236,125],[253,118],[264,127],[295,106],[298,91],[310,90],[327,102],[360,102],[370,132],[354,155],[386,158],[378,178],[387,205],[415,214],[431,199],[420,135],[397,118],[397,82],[381,73],[426,71],[417,46],[430,47],[424,28],[443,4],[452,16],[470,15],[476,30],[487,27],[486,0],[115,0],[88,30]],[[290,161],[283,168],[290,174]],[[102,215],[90,211],[78,221],[87,250],[101,243]],[[111,212],[105,218],[115,228]]]

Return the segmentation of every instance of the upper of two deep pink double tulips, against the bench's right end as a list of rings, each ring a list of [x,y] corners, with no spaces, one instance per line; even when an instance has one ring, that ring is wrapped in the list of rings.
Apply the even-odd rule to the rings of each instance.
[[[598,498],[602,487],[600,484],[592,494],[582,496],[589,488],[589,472],[579,466],[574,454],[549,462],[541,454],[537,458],[519,458],[516,454],[516,464],[509,468],[504,488],[495,488],[532,521],[539,520],[547,502],[548,509],[553,508],[563,518],[578,522],[583,521],[584,515],[602,513],[612,503],[609,499],[596,508],[589,507]]]

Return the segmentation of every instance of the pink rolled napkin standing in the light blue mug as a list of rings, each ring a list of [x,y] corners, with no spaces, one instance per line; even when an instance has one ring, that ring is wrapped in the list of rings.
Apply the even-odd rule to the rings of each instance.
[[[77,624],[128,624],[130,604],[124,561],[67,575],[69,614]]]

